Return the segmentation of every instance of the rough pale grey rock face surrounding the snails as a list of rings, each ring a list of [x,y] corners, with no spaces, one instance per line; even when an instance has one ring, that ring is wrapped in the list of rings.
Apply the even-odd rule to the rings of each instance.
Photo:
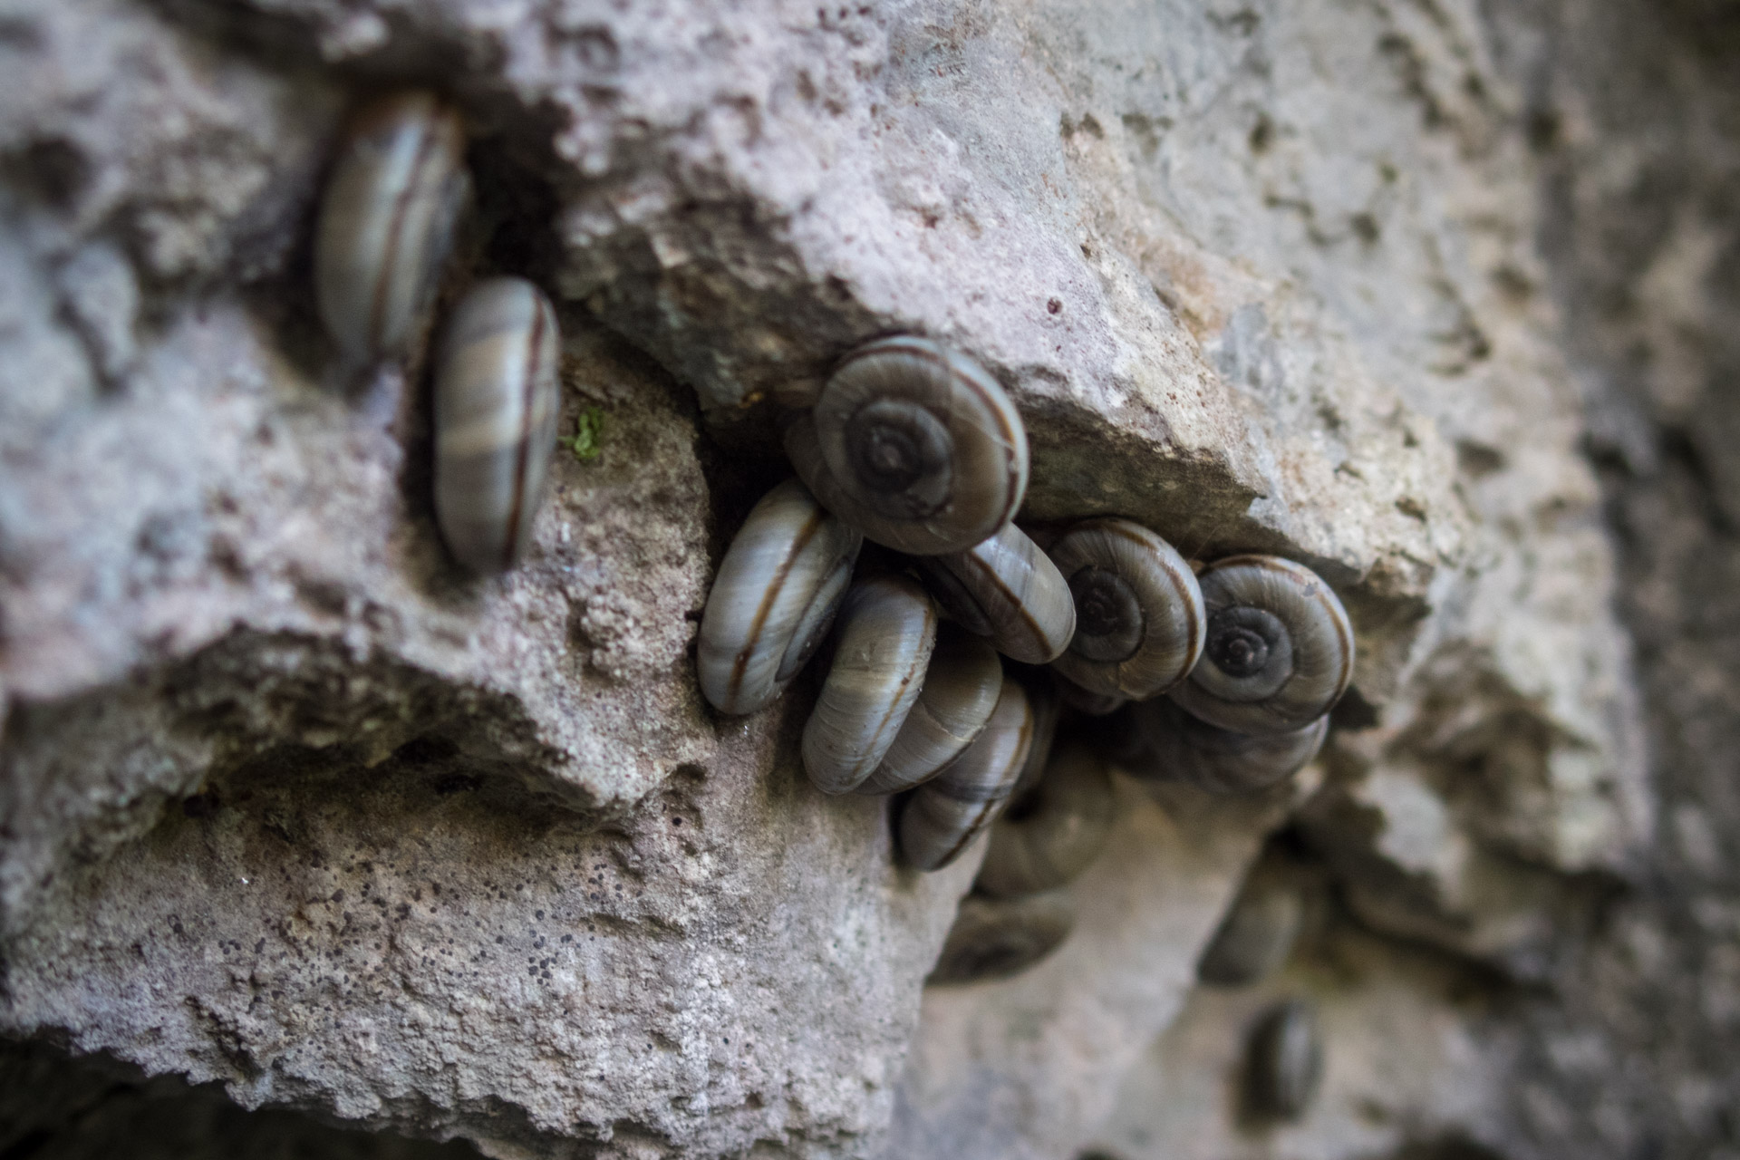
[[[1735,12],[10,5],[0,1030],[64,1096],[0,1148],[1740,1146]],[[421,346],[358,379],[313,318],[324,158],[393,83],[472,127],[447,294],[536,278],[562,431],[604,416],[501,579],[435,532]],[[1009,388],[1027,518],[1295,557],[1359,635],[1298,786],[1121,783],[1079,929],[997,984],[922,986],[974,857],[809,790],[807,685],[693,678],[776,402],[889,330]],[[1312,941],[1202,993],[1281,826]],[[1282,993],[1328,1082],[1253,1127]]]

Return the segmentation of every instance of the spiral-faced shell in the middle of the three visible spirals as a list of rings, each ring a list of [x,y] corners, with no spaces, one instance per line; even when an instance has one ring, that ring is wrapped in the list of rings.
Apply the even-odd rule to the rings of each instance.
[[[1129,520],[1084,520],[1051,546],[1075,598],[1075,637],[1053,664],[1088,692],[1143,701],[1202,652],[1202,593],[1183,557]]]

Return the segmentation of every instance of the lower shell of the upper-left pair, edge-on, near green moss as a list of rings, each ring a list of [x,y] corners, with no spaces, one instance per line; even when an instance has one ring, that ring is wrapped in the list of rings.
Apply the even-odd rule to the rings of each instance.
[[[473,285],[435,369],[435,518],[459,563],[513,567],[531,541],[555,452],[560,336],[550,301],[524,278]]]

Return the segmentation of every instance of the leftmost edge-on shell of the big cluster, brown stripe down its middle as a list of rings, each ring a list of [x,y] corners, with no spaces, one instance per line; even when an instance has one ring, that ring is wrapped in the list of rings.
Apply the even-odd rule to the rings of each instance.
[[[797,677],[828,635],[863,537],[799,480],[760,497],[719,562],[696,668],[720,713],[753,713]]]

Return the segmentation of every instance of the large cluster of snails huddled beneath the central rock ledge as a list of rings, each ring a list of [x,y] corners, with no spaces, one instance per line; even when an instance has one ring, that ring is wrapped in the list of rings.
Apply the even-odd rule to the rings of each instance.
[[[1011,974],[1068,934],[1060,892],[1112,826],[1108,758],[1239,793],[1317,753],[1354,637],[1308,569],[1258,555],[1192,569],[1115,517],[1041,532],[1041,546],[1013,522],[1020,416],[990,374],[926,337],[861,346],[797,402],[797,478],[726,551],[701,692],[753,713],[820,656],[802,736],[816,788],[900,795],[896,849],[919,870],[992,831],[933,981]],[[898,555],[854,579],[865,539]],[[1110,744],[1053,748],[1063,706],[1115,713],[1098,730]]]

